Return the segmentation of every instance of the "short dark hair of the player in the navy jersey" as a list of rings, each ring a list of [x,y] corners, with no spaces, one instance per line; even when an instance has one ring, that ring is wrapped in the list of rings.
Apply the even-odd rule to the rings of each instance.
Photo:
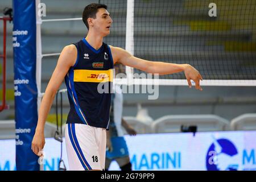
[[[88,30],[89,30],[89,24],[88,24],[87,19],[88,18],[96,18],[96,13],[97,13],[98,9],[100,9],[100,8],[107,9],[108,6],[106,6],[104,4],[91,3],[90,5],[88,5],[84,8],[84,11],[82,12],[82,21],[84,22],[84,24],[88,28]]]

